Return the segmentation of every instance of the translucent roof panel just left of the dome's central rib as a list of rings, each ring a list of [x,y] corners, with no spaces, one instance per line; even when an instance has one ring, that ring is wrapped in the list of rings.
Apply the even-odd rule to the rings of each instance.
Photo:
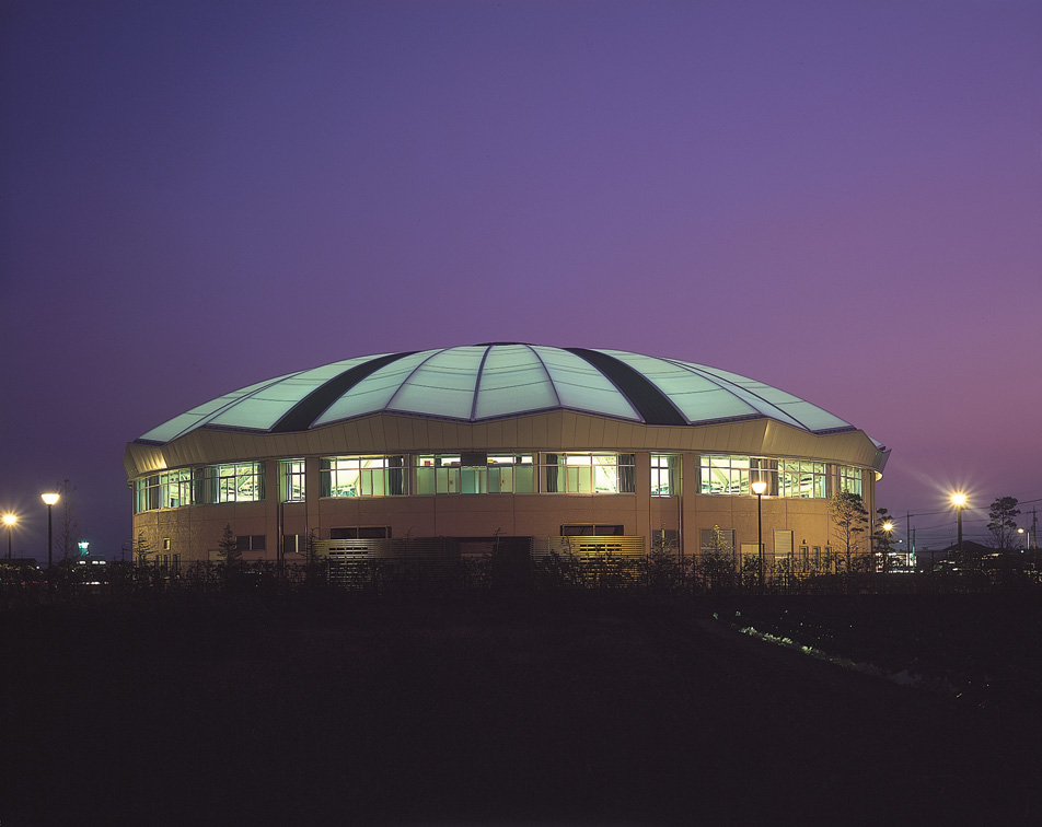
[[[487,348],[451,348],[425,359],[402,383],[389,410],[470,419]]]

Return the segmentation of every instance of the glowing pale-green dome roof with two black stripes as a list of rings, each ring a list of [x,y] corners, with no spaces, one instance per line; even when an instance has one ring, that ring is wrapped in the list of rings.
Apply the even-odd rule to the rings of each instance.
[[[358,357],[258,382],[143,433],[305,431],[371,414],[477,422],[568,409],[658,426],[769,417],[811,433],[857,430],[756,380],[624,350],[513,342]]]

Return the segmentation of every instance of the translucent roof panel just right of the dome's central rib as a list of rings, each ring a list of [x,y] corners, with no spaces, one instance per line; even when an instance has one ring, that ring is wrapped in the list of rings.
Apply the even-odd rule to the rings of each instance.
[[[528,345],[490,347],[482,365],[475,419],[544,410],[560,404],[542,360]]]

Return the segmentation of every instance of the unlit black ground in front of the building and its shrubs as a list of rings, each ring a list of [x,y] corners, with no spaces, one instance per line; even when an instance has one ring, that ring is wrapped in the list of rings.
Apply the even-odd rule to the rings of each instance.
[[[10,611],[0,823],[1038,823],[1038,606],[916,599]]]

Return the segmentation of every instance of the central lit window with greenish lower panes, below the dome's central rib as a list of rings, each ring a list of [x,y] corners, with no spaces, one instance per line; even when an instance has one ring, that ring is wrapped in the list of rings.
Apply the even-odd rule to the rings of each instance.
[[[416,457],[416,493],[532,493],[531,454],[431,454]]]

